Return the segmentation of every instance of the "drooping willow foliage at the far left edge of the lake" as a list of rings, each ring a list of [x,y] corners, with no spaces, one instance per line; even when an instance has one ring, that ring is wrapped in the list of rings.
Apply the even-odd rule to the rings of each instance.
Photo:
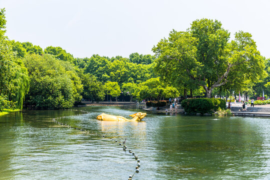
[[[22,108],[24,95],[29,90],[29,78],[22,60],[12,51],[11,43],[4,36],[5,30],[2,28],[5,28],[5,22],[4,9],[1,9],[0,104],[5,104],[5,107],[14,106],[16,108]]]

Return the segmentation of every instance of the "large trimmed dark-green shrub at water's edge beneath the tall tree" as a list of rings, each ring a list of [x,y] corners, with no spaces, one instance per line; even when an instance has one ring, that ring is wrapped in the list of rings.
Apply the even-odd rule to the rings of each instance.
[[[216,111],[218,108],[226,108],[226,102],[219,98],[192,98],[184,99],[181,102],[184,111],[188,114],[191,113],[209,113]]]

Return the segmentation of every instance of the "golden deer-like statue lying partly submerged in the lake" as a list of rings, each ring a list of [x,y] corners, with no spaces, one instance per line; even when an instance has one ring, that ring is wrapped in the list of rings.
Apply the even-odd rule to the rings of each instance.
[[[134,114],[129,115],[133,117],[132,119],[127,119],[123,116],[115,116],[110,114],[101,113],[100,115],[97,115],[98,120],[111,120],[111,121],[140,121],[143,117],[146,116],[146,113],[137,112]]]

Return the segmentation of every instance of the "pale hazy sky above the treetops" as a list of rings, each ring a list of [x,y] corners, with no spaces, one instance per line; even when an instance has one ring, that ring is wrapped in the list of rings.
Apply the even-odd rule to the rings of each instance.
[[[251,33],[270,57],[270,0],[0,0],[3,7],[9,39],[60,46],[74,57],[153,54],[172,29],[200,18],[221,21],[231,37]]]

